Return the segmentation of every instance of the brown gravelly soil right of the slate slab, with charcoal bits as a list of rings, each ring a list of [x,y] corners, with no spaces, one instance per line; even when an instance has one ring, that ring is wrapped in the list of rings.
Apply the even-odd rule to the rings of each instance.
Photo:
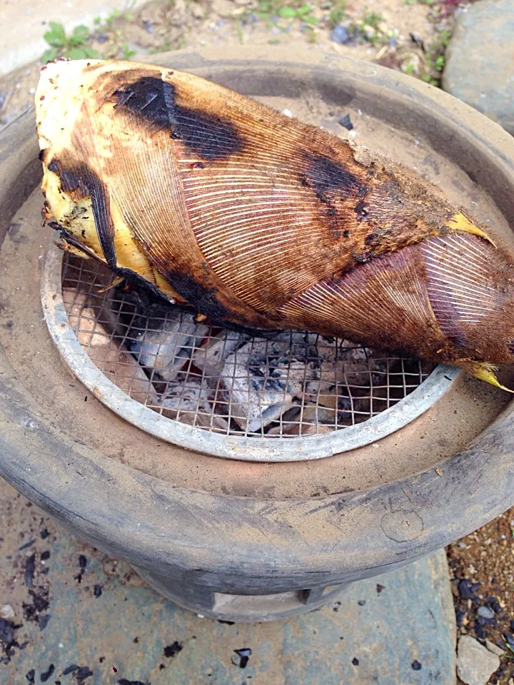
[[[448,547],[459,634],[504,650],[490,685],[514,678],[514,507]],[[479,607],[485,607],[486,610]],[[489,611],[487,611],[489,609]],[[482,615],[480,615],[482,614]]]

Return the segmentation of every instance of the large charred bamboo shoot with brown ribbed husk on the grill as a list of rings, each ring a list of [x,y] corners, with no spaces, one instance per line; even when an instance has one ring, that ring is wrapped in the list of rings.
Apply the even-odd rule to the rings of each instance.
[[[44,66],[36,119],[45,218],[116,282],[219,325],[311,330],[494,385],[513,362],[513,250],[414,171],[133,62]]]

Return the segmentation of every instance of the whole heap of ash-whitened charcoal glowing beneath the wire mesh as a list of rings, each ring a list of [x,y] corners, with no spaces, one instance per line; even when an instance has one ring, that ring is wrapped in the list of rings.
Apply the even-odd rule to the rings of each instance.
[[[316,333],[251,338],[222,330],[203,343],[211,328],[179,311],[148,318],[144,328],[131,330],[129,345],[163,414],[211,430],[229,432],[229,422],[257,435],[336,430],[376,412],[371,393],[388,372],[373,350]]]

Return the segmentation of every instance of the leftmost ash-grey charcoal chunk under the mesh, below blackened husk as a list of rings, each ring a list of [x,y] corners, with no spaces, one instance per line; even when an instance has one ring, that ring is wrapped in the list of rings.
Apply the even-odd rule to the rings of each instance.
[[[136,319],[126,345],[141,366],[153,370],[161,380],[171,382],[208,331],[208,326],[196,323],[193,314],[171,309],[164,319]]]

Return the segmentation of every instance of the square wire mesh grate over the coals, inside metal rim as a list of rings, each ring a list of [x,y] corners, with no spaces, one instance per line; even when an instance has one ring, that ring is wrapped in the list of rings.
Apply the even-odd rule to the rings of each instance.
[[[96,367],[133,400],[222,435],[298,437],[376,416],[415,390],[433,365],[315,333],[266,338],[141,305],[112,273],[65,254],[69,321]],[[106,289],[107,288],[107,289]]]

